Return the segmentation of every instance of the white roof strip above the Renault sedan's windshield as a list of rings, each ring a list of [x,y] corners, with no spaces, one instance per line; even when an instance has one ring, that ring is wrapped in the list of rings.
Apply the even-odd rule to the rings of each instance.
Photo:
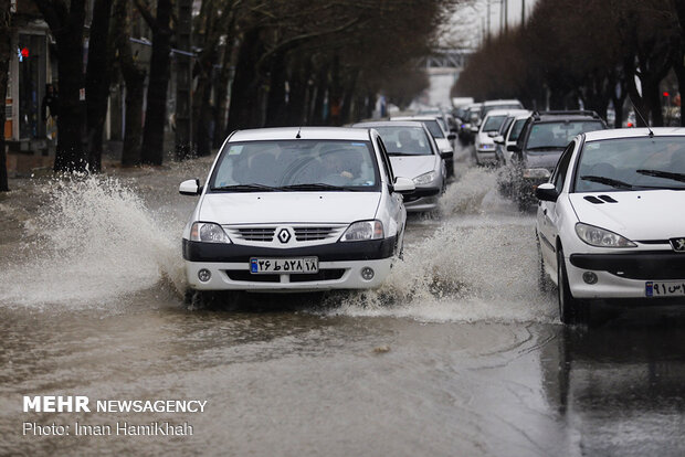
[[[297,139],[338,139],[368,141],[369,130],[351,127],[274,127],[236,130],[230,141],[261,141]]]

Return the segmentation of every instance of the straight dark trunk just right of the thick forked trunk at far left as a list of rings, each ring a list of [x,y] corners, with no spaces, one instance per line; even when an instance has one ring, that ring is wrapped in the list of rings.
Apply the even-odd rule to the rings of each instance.
[[[94,172],[99,172],[102,169],[103,130],[109,98],[112,59],[107,38],[110,12],[112,0],[95,0],[86,68],[88,166]]]

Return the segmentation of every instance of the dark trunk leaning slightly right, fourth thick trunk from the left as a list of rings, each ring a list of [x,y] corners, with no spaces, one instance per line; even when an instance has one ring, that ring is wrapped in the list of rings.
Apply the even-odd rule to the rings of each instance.
[[[171,52],[171,1],[157,1],[156,24],[152,26],[152,55],[147,88],[147,110],[143,134],[143,163],[160,166],[164,161],[165,124],[167,121],[167,86]]]

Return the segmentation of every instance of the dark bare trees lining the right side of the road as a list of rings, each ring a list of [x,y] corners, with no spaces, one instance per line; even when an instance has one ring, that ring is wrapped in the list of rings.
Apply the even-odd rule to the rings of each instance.
[[[453,93],[551,109],[582,100],[603,117],[611,103],[616,126],[630,97],[645,121],[661,126],[660,84],[674,72],[685,94],[684,57],[682,0],[538,0],[524,26],[473,55]]]

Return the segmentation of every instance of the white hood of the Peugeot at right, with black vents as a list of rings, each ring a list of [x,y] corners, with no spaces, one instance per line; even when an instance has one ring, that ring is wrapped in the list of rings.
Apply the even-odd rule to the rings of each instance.
[[[588,196],[609,196],[615,203],[592,203],[586,200]],[[610,230],[629,240],[685,236],[685,213],[681,211],[685,208],[685,191],[572,193],[569,199],[580,222]]]

